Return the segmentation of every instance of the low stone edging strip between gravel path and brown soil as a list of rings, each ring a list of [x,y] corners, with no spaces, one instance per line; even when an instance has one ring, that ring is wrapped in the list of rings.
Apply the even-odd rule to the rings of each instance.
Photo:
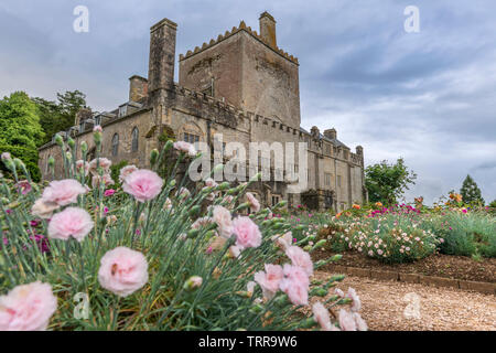
[[[444,277],[424,276],[417,274],[403,274],[395,271],[384,271],[369,268],[348,267],[341,265],[327,265],[330,270],[337,274],[345,274],[357,277],[368,277],[379,280],[396,280],[408,284],[421,284],[431,287],[449,287],[463,290],[478,291],[485,295],[496,296],[496,284],[477,282],[471,280],[451,279]]]

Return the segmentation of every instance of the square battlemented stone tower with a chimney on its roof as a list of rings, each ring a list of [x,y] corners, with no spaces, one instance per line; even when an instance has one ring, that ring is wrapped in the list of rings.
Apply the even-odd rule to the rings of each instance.
[[[260,15],[258,34],[244,21],[202,47],[180,55],[180,86],[246,111],[300,127],[298,58],[277,46],[276,20]]]

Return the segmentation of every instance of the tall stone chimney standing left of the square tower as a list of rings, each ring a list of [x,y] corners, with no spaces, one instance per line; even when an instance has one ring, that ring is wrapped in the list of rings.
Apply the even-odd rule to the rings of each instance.
[[[163,19],[150,29],[148,89],[172,89],[174,85],[175,34],[177,24]]]

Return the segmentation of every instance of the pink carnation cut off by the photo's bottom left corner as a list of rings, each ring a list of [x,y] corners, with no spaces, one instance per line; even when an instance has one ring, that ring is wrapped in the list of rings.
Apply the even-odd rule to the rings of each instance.
[[[48,284],[18,286],[0,297],[0,331],[44,331],[56,309]]]

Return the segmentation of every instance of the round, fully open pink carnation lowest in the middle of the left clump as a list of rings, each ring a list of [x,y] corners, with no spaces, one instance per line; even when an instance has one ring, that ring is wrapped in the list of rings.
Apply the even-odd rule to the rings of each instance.
[[[112,293],[127,297],[147,284],[147,259],[128,247],[116,247],[101,258],[98,281]]]

